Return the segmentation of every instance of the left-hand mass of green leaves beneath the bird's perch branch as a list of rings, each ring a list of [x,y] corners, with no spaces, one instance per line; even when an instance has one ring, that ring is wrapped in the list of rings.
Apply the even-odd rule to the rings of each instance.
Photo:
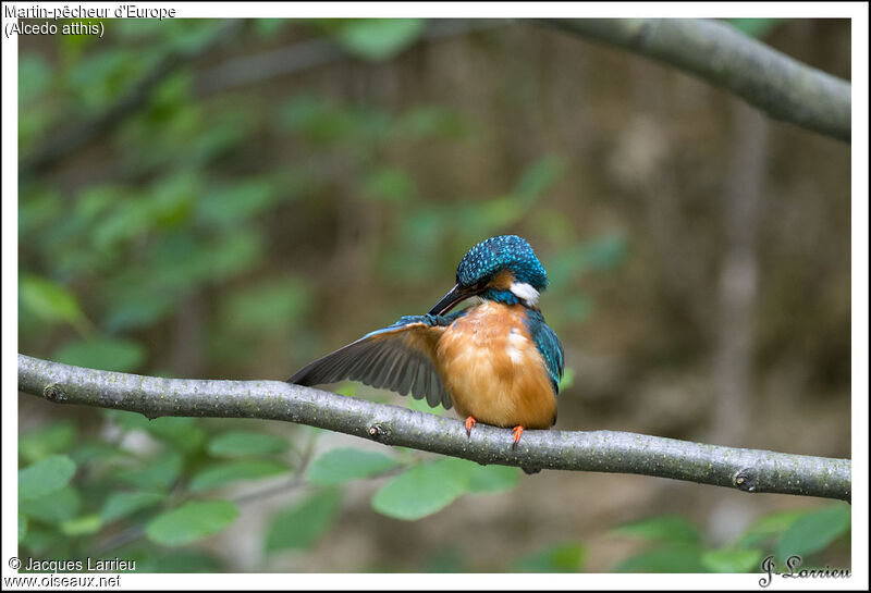
[[[269,521],[263,536],[269,554],[317,545],[340,517],[339,486],[355,480],[393,475],[376,491],[372,507],[402,519],[437,512],[466,493],[511,490],[518,481],[517,468],[433,460],[403,450],[396,457],[334,448],[306,464],[294,455],[299,447],[286,438],[240,432],[228,422],[148,421],[122,411],[103,417],[102,432],[116,434],[111,440],[115,445],[77,434],[76,424],[68,420],[21,435],[19,541],[28,553],[106,558],[124,554],[147,571],[173,570],[179,565],[165,564],[171,557],[165,547],[221,532],[242,507],[274,494],[275,479],[285,484],[282,490],[306,494]],[[147,447],[126,444],[142,438]],[[228,486],[265,480],[262,490],[229,495]],[[204,568],[220,566],[218,558],[208,558]]]

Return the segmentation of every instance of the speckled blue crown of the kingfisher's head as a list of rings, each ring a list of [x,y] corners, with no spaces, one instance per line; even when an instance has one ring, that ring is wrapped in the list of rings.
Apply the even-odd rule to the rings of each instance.
[[[469,249],[456,269],[456,283],[473,286],[501,270],[513,272],[517,282],[525,282],[537,291],[548,287],[548,273],[536,252],[517,235],[491,237]]]

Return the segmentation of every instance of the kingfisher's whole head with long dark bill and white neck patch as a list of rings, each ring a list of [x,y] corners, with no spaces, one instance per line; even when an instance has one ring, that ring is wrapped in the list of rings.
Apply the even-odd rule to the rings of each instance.
[[[444,314],[474,296],[537,309],[538,295],[547,287],[548,273],[529,244],[516,235],[500,235],[463,256],[456,269],[456,286],[430,314]]]

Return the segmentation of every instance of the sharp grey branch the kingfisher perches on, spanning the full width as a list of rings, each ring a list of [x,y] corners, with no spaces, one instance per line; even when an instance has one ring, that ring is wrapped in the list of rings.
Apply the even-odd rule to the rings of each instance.
[[[640,473],[734,487],[850,499],[850,461],[741,449],[613,431],[505,429],[281,383],[162,379],[70,367],[19,355],[19,390],[58,404],[136,411],[148,418],[261,418],[308,424],[385,445],[528,468]]]

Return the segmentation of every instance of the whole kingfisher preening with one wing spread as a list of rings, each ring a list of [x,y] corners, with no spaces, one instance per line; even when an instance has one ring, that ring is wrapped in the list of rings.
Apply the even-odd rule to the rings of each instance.
[[[556,422],[563,346],[544,322],[539,295],[548,274],[516,235],[479,243],[463,257],[456,284],[424,316],[405,316],[320,358],[287,381],[346,379],[455,408],[470,436],[481,422],[524,429]],[[470,299],[465,309],[451,312]],[[537,470],[527,470],[533,472]]]

